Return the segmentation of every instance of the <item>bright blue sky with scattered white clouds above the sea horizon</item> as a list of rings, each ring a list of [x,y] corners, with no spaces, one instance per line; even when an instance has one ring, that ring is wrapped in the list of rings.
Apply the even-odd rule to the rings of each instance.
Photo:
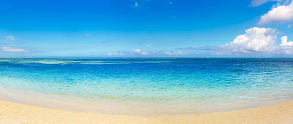
[[[293,57],[292,0],[3,0],[0,57]]]

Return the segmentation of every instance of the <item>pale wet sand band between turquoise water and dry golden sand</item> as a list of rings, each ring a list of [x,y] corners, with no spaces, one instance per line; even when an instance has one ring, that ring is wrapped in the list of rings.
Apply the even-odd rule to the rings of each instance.
[[[221,106],[138,106],[136,104],[112,103],[106,101],[87,101],[74,96],[59,96],[36,94],[23,90],[0,89],[0,100],[10,101],[28,106],[43,107],[75,112],[91,112],[110,115],[135,115],[135,116],[157,116],[157,115],[182,115],[201,114],[218,111],[231,111],[238,109],[254,108],[291,101],[293,97],[262,100],[251,103],[238,103]]]

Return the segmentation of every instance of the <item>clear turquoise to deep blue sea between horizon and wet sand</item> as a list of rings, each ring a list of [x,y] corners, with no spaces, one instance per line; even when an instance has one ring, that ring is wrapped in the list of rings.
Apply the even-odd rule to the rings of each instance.
[[[293,58],[0,59],[0,89],[148,107],[293,97]]]

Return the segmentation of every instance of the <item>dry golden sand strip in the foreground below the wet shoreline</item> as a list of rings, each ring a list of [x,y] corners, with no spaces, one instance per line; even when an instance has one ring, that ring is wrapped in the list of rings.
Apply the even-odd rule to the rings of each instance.
[[[74,112],[0,101],[0,124],[293,124],[293,101],[224,112],[161,116]]]

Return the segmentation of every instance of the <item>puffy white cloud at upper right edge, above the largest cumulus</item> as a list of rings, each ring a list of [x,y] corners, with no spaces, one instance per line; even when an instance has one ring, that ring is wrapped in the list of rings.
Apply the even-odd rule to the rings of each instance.
[[[293,1],[289,5],[277,5],[261,16],[259,24],[293,21]]]

